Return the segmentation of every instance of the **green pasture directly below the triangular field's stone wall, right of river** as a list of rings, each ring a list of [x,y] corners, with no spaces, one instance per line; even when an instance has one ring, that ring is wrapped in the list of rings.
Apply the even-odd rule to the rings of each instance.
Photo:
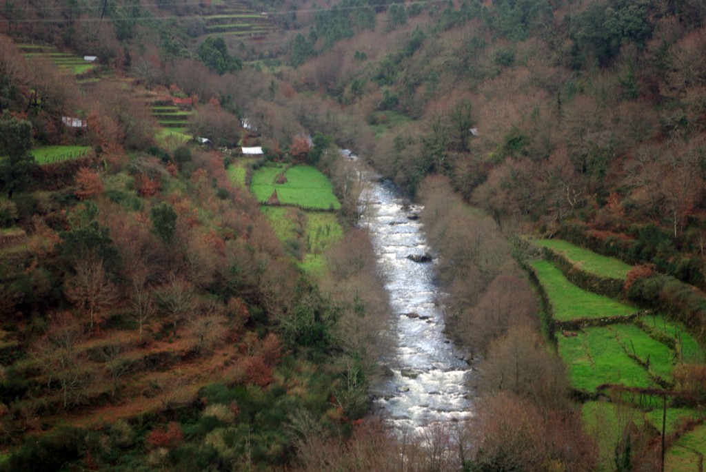
[[[558,351],[575,389],[595,392],[602,384],[656,387],[642,366],[623,351],[613,327],[592,327],[575,337],[558,336]]]

